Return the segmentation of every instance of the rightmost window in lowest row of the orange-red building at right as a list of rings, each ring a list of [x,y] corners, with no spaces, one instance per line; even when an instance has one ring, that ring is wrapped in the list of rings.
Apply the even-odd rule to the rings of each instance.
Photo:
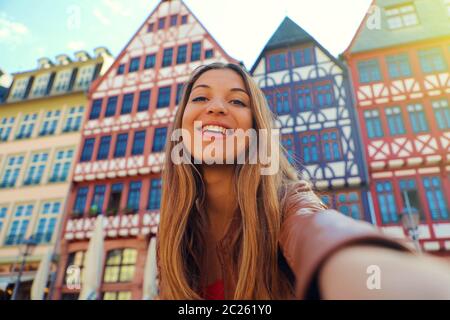
[[[439,177],[422,178],[423,187],[427,196],[431,218],[436,220],[449,220],[448,204],[442,191],[441,179]]]

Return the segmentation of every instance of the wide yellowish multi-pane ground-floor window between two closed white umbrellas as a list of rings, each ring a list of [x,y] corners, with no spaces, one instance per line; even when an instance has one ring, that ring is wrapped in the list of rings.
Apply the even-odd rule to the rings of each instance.
[[[103,282],[131,282],[137,261],[137,250],[116,249],[108,252]]]

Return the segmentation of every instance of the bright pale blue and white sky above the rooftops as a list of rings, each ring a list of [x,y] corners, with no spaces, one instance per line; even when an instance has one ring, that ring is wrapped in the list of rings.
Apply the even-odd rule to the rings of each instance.
[[[218,43],[251,68],[285,16],[333,55],[351,42],[371,0],[184,0]],[[32,70],[41,57],[117,56],[159,0],[0,0],[0,68]]]

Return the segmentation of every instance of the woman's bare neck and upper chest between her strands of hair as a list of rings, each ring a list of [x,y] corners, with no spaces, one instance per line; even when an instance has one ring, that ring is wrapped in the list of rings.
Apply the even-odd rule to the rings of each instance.
[[[202,168],[206,191],[206,213],[210,231],[220,239],[226,231],[237,208],[234,190],[234,170],[231,165],[205,166]]]

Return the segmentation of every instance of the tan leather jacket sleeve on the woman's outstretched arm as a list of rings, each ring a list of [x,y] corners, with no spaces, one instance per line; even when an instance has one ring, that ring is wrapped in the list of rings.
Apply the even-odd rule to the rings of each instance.
[[[373,244],[413,252],[367,222],[334,210],[288,216],[281,227],[280,247],[296,278],[298,299],[320,298],[318,271],[331,254],[348,245]]]

